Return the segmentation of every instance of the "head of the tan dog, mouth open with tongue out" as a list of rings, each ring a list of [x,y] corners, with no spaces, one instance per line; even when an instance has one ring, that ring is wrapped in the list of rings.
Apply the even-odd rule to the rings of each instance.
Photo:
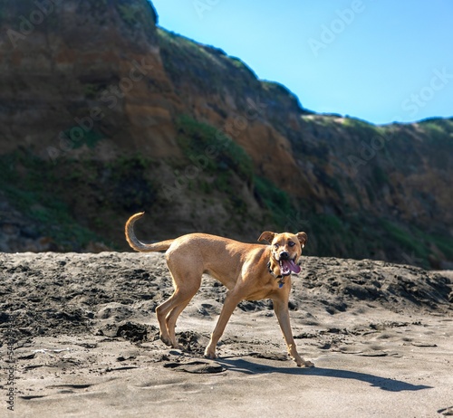
[[[265,231],[258,241],[267,241],[271,244],[271,261],[280,266],[282,275],[287,276],[299,273],[301,268],[297,261],[302,254],[305,243],[308,240],[306,233],[271,233]]]

